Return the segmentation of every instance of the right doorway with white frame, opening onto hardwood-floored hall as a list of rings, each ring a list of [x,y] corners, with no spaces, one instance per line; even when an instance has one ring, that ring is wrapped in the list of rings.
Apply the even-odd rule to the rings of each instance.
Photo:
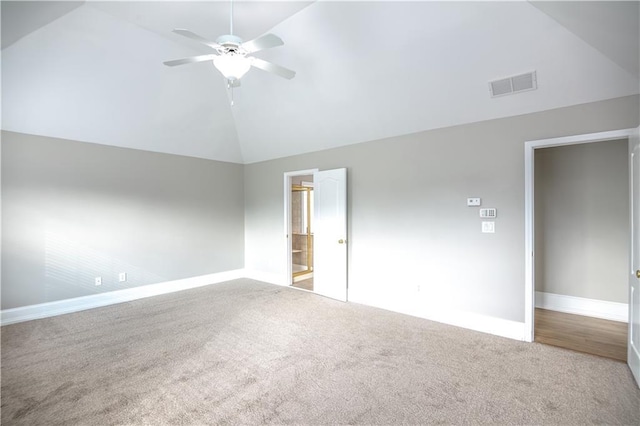
[[[626,360],[630,134],[620,130],[525,144],[526,341]],[[602,142],[607,152],[617,150],[617,169],[608,166],[622,180],[615,206],[609,177],[602,182],[597,176],[603,171],[594,166],[599,160],[594,142]],[[581,157],[567,162],[576,152]],[[605,226],[606,221],[615,223]],[[603,249],[614,245],[616,256],[603,264],[598,257],[607,257]],[[610,275],[617,286],[613,292],[607,288]]]

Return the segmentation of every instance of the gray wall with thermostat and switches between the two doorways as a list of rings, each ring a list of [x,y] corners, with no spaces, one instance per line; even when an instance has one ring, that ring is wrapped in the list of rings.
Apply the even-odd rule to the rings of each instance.
[[[638,126],[638,96],[245,166],[245,267],[286,280],[283,173],[348,168],[349,299],[524,321],[524,142]],[[330,125],[330,124],[328,124]],[[467,197],[496,207],[482,234]]]

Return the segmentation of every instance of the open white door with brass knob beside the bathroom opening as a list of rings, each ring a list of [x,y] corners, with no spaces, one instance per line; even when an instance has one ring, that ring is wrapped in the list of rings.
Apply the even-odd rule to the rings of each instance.
[[[315,172],[313,289],[347,300],[347,169]]]

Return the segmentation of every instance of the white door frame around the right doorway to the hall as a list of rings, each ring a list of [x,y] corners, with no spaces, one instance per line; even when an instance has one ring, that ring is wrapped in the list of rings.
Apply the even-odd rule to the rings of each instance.
[[[535,228],[534,228],[534,151],[539,148],[578,145],[629,138],[635,129],[612,130],[559,138],[538,139],[524,143],[524,227],[525,227],[525,284],[524,284],[524,341],[533,342],[535,313]],[[629,193],[631,197],[631,193]],[[631,251],[631,250],[629,250]],[[631,254],[629,254],[630,256]]]

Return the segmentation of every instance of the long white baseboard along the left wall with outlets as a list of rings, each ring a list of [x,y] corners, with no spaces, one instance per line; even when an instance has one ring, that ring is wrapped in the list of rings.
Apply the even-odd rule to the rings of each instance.
[[[115,305],[117,303],[130,302],[132,300],[143,299],[145,297],[174,293],[176,291],[187,290],[190,288],[219,284],[244,277],[244,270],[236,269],[233,271],[217,272],[214,274],[184,278],[181,280],[166,281],[158,284],[149,284],[125,290],[75,297],[73,299],[57,300],[55,302],[40,303],[38,305],[4,309],[0,311],[0,324],[8,325],[17,322],[69,314],[92,308]]]

